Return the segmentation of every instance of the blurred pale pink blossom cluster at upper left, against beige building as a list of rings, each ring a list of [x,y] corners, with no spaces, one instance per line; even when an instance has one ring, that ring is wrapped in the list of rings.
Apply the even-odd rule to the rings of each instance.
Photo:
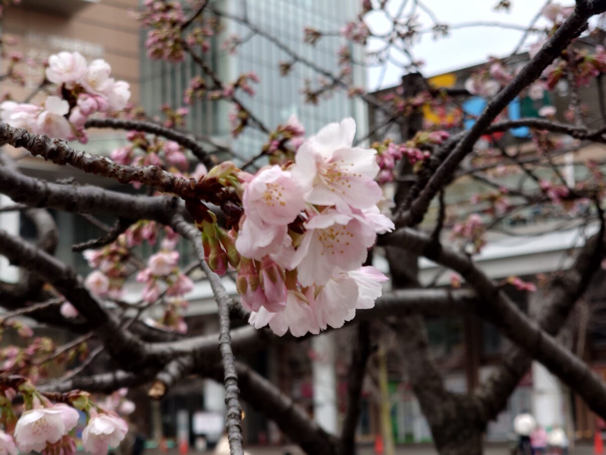
[[[96,59],[87,65],[78,52],[59,52],[48,58],[47,80],[56,84],[57,95],[42,106],[4,101],[0,118],[13,127],[53,138],[88,140],[84,124],[95,113],[119,112],[130,99],[130,86],[110,77],[109,64]]]

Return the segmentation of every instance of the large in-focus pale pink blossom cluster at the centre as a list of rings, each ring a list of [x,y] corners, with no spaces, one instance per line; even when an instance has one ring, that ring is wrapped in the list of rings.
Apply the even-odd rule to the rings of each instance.
[[[329,124],[299,147],[295,163],[236,174],[244,207],[237,287],[256,328],[317,334],[381,295],[387,278],[362,265],[377,233],[394,226],[377,206],[376,150],[353,147],[355,130],[351,118]]]

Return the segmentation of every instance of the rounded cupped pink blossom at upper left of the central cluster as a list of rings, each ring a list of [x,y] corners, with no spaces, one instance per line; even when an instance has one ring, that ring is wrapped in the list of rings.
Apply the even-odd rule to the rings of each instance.
[[[260,170],[245,184],[242,203],[247,219],[258,226],[291,223],[305,207],[301,189],[280,166]]]

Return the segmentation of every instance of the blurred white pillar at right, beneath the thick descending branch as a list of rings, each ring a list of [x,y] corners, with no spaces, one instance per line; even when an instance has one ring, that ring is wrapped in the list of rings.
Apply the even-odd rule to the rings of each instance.
[[[532,364],[533,413],[543,426],[564,426],[564,397],[556,377],[539,362]]]

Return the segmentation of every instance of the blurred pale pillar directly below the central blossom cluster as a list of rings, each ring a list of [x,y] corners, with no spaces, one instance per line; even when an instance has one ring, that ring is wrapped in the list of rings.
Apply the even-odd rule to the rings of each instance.
[[[316,358],[313,371],[313,414],[316,422],[330,434],[337,433],[337,388],[335,372],[335,334],[328,332],[311,339]]]

